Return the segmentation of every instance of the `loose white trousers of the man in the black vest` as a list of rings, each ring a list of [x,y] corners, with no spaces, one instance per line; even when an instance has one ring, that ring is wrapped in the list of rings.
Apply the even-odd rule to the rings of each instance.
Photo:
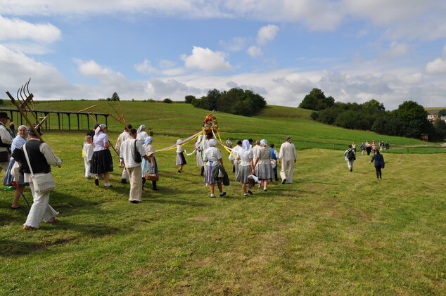
[[[56,217],[58,212],[56,212],[51,205],[49,205],[49,191],[45,193],[37,193],[34,191],[34,184],[30,182],[30,189],[32,193],[32,206],[30,214],[26,219],[25,226],[33,227],[38,229],[42,218],[45,222],[48,222],[51,218]]]

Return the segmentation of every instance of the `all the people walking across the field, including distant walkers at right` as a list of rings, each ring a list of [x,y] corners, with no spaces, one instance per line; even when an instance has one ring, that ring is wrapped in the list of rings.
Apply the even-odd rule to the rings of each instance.
[[[6,171],[4,185],[13,185],[16,188],[12,209],[20,207],[18,205],[20,195],[23,194],[25,186],[30,186],[33,203],[23,229],[39,229],[42,219],[47,223],[58,221],[56,217],[58,212],[49,205],[49,195],[55,184],[53,187],[49,186],[50,188],[42,188],[40,184],[42,181],[39,181],[38,177],[44,176],[45,182],[53,184],[51,166],[60,167],[62,160],[53,153],[48,144],[40,141],[39,129],[29,129],[21,125],[17,129],[17,136],[14,136],[13,130],[6,128],[8,120],[6,112],[0,112],[0,170]],[[115,146],[111,144],[107,133],[106,124],[96,124],[84,138],[82,155],[85,178],[94,177],[96,186],[103,180],[104,188],[113,187],[110,184],[110,173],[114,169],[113,156],[110,152],[112,148],[117,153],[122,167],[121,183],[129,183],[130,186],[129,202],[142,201],[146,181],[151,181],[153,190],[158,191],[158,163],[155,158],[155,148],[152,146],[153,137],[147,134],[146,126],[141,125],[138,129],[134,129],[131,124],[127,124],[118,136]],[[203,176],[204,183],[209,187],[210,198],[216,197],[216,185],[220,197],[227,195],[223,186],[229,185],[230,182],[222,151],[217,147],[218,143],[219,141],[214,139],[214,134],[208,132],[200,134],[194,144],[196,165],[200,168],[200,176]],[[179,166],[177,170],[179,173],[183,172],[187,163],[183,144],[184,141],[178,140],[177,145],[173,146],[176,148],[175,164]],[[279,152],[275,149],[274,143],[269,144],[265,139],[236,140],[233,146],[232,140],[228,138],[225,143],[219,144],[229,153],[228,167],[231,167],[231,172],[234,173],[233,181],[241,184],[243,196],[253,195],[255,186],[260,191],[268,191],[272,181],[280,181],[281,184],[293,183],[293,166],[297,161],[297,153],[290,136],[286,136],[285,141],[281,143]],[[379,179],[382,174],[381,169],[384,167],[383,156],[379,152],[380,149],[374,146],[374,141],[362,143],[362,154],[364,150],[367,151],[367,147],[370,147],[370,152],[374,150],[371,162],[374,162],[376,176]],[[388,147],[388,143],[382,147]],[[352,172],[356,155],[355,143],[345,150],[344,155]]]

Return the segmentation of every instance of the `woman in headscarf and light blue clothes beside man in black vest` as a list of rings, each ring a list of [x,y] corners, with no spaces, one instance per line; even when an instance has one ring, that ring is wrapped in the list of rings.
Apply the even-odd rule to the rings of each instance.
[[[11,144],[11,152],[14,152],[15,149],[20,149],[26,143],[28,138],[28,128],[25,125],[20,125],[17,129],[17,136],[15,136],[13,143]],[[19,161],[20,162],[20,161]],[[13,170],[13,165],[15,164],[14,158],[11,156],[9,159],[8,169],[6,169],[5,179],[3,181],[4,186],[10,186],[12,181],[18,182],[18,189],[15,190],[13,204],[11,205],[11,209],[18,209],[20,206],[18,205],[18,200],[20,199],[20,191],[23,191],[25,186],[30,186],[30,184],[25,183],[23,174],[20,174],[20,179],[16,180],[11,175],[11,170]],[[20,190],[20,191],[19,191]]]

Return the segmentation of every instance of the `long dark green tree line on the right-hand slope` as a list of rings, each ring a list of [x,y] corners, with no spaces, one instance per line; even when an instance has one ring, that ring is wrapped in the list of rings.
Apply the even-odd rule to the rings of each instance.
[[[397,109],[386,111],[383,103],[372,99],[362,104],[335,102],[320,89],[313,89],[300,103],[299,108],[314,110],[310,117],[325,124],[347,129],[376,131],[378,134],[405,136],[420,139],[428,135],[429,141],[446,138],[446,122],[428,120],[428,112],[414,101],[404,101]]]

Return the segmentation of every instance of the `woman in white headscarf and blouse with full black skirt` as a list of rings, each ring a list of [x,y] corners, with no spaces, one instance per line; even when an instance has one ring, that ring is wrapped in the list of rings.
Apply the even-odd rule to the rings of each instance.
[[[110,150],[108,148],[111,146],[108,141],[107,126],[106,124],[100,124],[96,131],[94,131],[93,138],[93,157],[91,157],[91,174],[96,174],[96,179],[94,179],[94,184],[99,186],[99,178],[103,176],[104,186],[112,187],[109,183],[110,172],[113,172],[113,159],[111,157]]]

